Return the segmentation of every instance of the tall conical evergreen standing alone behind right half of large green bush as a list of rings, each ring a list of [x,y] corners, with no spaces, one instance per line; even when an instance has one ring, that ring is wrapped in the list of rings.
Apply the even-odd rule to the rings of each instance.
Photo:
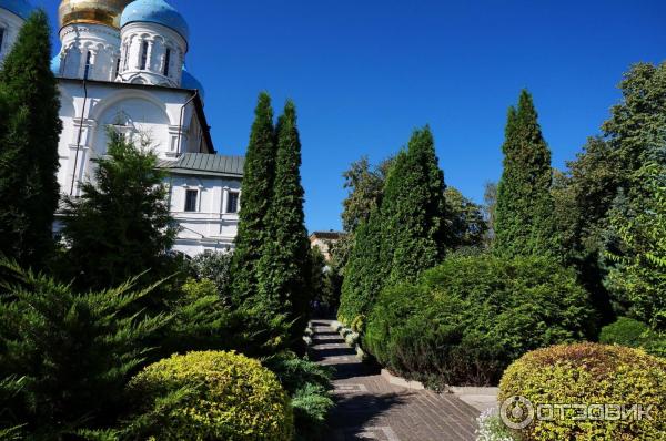
[[[556,256],[551,151],[543,137],[532,95],[523,90],[509,107],[504,172],[497,188],[495,250],[506,256]]]

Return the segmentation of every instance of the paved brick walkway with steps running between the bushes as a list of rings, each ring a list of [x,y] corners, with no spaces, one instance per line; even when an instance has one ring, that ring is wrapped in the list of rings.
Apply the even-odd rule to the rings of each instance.
[[[454,396],[390,384],[361,363],[331,320],[313,320],[313,355],[335,368],[337,406],[326,441],[473,441],[478,411]]]

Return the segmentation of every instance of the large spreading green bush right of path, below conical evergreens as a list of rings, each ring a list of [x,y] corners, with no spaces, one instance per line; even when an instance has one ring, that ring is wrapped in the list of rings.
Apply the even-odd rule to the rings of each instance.
[[[362,341],[433,387],[488,384],[532,349],[593,335],[594,322],[575,275],[546,258],[457,256],[418,285],[384,289]]]

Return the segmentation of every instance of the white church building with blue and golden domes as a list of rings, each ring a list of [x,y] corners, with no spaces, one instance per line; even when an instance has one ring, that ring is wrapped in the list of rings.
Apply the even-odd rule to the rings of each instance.
[[[0,63],[32,11],[27,0],[0,0]],[[107,151],[109,127],[150,139],[169,171],[174,250],[189,256],[233,248],[243,157],[218,155],[204,91],[185,70],[186,21],[164,0],[62,0],[60,171],[64,195],[80,196]]]

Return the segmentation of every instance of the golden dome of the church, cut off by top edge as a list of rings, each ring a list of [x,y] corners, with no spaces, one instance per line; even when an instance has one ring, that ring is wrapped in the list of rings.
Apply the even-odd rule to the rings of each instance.
[[[120,29],[120,16],[132,0],[62,0],[60,28],[72,23],[105,24]]]

